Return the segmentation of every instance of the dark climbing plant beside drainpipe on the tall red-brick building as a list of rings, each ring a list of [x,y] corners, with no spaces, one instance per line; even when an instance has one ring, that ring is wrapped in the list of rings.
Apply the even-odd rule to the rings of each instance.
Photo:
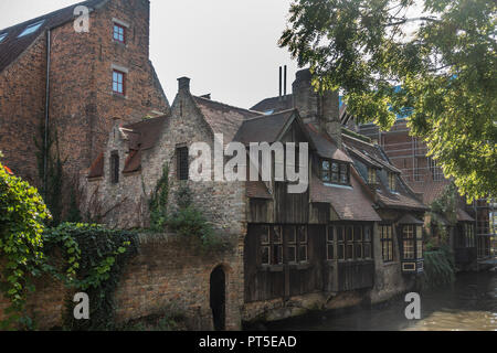
[[[43,199],[52,213],[50,225],[56,226],[62,222],[62,188],[64,186],[63,165],[59,149],[59,135],[56,128],[52,127],[46,133],[45,147],[45,127],[40,128],[41,142],[34,139],[36,146],[38,173],[42,181],[40,189]],[[46,160],[45,160],[46,158]],[[46,162],[46,175],[45,175]]]

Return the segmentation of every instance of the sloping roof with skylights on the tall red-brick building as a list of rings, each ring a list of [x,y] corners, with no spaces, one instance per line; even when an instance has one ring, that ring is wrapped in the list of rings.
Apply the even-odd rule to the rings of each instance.
[[[35,40],[41,33],[46,30],[60,26],[66,22],[74,19],[74,8],[77,6],[85,6],[91,9],[107,2],[108,0],[89,0],[83,1],[71,7],[51,12],[49,14],[39,17],[36,19],[25,21],[23,23],[0,30],[0,34],[7,33],[7,38],[0,43],[0,72],[2,72],[7,66],[13,63]],[[39,30],[35,32],[18,38],[27,26],[30,24],[44,21]]]

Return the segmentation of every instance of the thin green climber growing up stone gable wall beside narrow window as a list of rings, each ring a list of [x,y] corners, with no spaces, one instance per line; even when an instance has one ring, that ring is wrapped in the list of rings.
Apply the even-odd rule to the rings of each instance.
[[[142,181],[144,183],[144,181]],[[145,186],[144,186],[145,190]],[[169,165],[162,168],[162,175],[157,182],[150,201],[150,229],[154,232],[163,232],[168,222],[168,199],[169,199]]]

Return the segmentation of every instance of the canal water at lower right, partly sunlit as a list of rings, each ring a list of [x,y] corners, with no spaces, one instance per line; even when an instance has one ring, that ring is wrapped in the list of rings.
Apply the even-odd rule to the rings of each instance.
[[[269,331],[497,331],[497,272],[459,274],[421,293],[421,320],[408,320],[403,298],[373,308],[313,313],[268,323]]]

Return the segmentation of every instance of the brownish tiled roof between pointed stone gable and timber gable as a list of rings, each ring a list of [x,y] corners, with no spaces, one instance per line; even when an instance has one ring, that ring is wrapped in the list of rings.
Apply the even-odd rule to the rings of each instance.
[[[233,107],[208,98],[193,97],[214,133],[223,133],[224,142],[233,140],[242,124],[251,118],[261,116],[262,113]]]

